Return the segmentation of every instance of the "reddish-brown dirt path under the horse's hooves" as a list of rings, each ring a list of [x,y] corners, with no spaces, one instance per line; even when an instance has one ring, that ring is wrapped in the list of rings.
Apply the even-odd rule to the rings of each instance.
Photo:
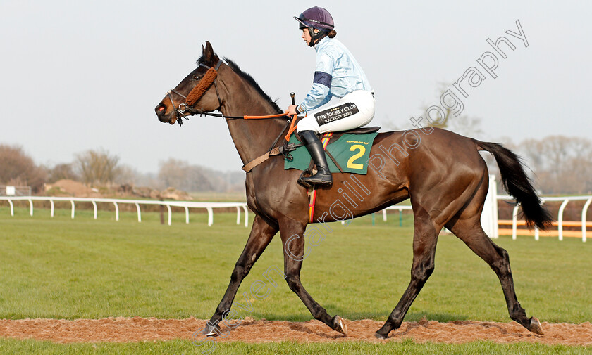
[[[195,318],[103,318],[77,319],[20,319],[0,320],[0,337],[17,339],[34,338],[52,342],[139,342],[144,340],[191,339],[192,334],[205,325],[206,321]],[[374,332],[382,322],[362,320],[346,321],[347,337],[319,321],[304,323],[288,321],[245,320],[234,330],[222,329],[221,342],[276,342],[297,340],[302,342],[340,342],[377,340]],[[545,335],[535,335],[515,322],[493,323],[476,321],[405,322],[401,328],[390,333],[390,340],[411,338],[416,342],[462,343],[474,340],[494,342],[540,342],[543,344],[592,345],[592,323],[543,323]],[[201,338],[201,337],[198,337]]]

